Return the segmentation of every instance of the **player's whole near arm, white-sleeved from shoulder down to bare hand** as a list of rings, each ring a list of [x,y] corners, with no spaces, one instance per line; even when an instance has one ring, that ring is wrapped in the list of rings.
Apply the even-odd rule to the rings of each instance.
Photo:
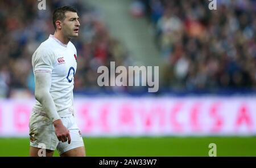
[[[63,125],[57,113],[53,98],[50,94],[51,72],[54,64],[53,55],[49,50],[36,51],[32,57],[35,74],[35,98],[42,105],[45,113],[52,120],[57,138],[64,142],[71,142],[68,129]]]

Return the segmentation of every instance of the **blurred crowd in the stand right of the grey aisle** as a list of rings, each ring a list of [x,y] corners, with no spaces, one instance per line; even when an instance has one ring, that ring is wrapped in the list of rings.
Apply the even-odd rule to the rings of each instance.
[[[163,87],[256,87],[256,1],[217,0],[217,10],[208,0],[135,2],[154,25]]]

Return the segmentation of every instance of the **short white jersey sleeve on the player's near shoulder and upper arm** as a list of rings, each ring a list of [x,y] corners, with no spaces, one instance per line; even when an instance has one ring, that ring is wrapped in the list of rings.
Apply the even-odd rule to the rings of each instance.
[[[54,55],[51,50],[47,48],[42,48],[36,50],[32,56],[32,66],[34,73],[37,72],[52,72],[54,66]]]

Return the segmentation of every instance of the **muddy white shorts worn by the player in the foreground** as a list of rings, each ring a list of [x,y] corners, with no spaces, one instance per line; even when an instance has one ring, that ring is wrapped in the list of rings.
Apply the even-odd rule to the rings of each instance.
[[[57,149],[59,154],[77,147],[84,147],[84,141],[75,118],[71,115],[71,117],[63,117],[61,120],[69,130],[70,144],[68,144],[68,141],[62,143],[57,139],[55,128],[49,118],[38,113],[32,113],[30,117],[30,146],[49,150]]]

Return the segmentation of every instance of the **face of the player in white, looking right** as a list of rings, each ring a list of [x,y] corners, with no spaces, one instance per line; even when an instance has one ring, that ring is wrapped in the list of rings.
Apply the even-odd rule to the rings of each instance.
[[[61,24],[63,35],[68,38],[78,37],[79,33],[79,16],[76,12],[65,12],[65,19]]]

